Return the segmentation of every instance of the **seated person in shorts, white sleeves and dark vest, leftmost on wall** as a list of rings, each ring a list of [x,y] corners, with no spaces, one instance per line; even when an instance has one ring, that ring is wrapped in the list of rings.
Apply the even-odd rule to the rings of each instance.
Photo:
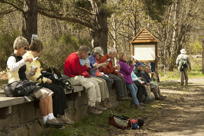
[[[25,73],[26,63],[32,63],[33,58],[22,58],[26,53],[28,46],[29,43],[24,37],[19,36],[15,39],[13,44],[14,53],[7,61],[8,83],[12,84],[15,81],[28,80]],[[36,99],[39,99],[39,107],[43,116],[43,123],[46,126],[61,127],[62,123],[57,120],[53,114],[52,94],[53,92],[47,88],[41,88],[33,92],[33,96]]]

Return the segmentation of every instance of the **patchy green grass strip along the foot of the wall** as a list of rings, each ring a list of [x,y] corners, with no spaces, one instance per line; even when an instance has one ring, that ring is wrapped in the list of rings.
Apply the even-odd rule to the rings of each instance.
[[[43,136],[108,136],[112,132],[121,132],[108,124],[109,116],[114,113],[116,115],[125,115],[130,118],[143,118],[148,120],[158,116],[157,109],[164,106],[159,101],[154,101],[151,104],[146,104],[142,110],[130,107],[130,102],[125,101],[119,104],[120,106],[108,110],[101,115],[89,115],[85,119],[80,120],[73,126],[68,126],[64,129],[49,129]]]

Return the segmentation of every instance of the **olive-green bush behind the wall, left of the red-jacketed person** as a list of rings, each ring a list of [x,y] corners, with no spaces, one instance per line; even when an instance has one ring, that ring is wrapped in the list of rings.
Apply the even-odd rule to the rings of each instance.
[[[64,34],[57,40],[50,40],[44,43],[42,53],[43,67],[55,67],[63,70],[64,60],[74,51],[77,51],[80,45],[90,46],[90,39],[78,39],[70,34]]]

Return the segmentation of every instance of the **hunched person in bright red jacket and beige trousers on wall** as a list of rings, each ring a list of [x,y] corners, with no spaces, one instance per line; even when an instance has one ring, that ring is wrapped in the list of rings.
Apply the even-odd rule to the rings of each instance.
[[[71,77],[72,85],[82,85],[88,90],[89,112],[93,114],[101,114],[102,109],[96,106],[101,102],[101,92],[97,81],[90,78],[89,74],[89,48],[80,46],[77,52],[71,53],[64,63],[64,74]]]

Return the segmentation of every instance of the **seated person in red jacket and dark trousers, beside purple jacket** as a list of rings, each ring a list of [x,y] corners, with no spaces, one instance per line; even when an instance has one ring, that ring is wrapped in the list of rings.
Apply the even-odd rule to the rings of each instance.
[[[108,77],[114,81],[113,85],[118,94],[118,100],[127,100],[126,84],[121,73],[119,73],[120,68],[119,66],[113,66],[113,59],[116,57],[116,55],[116,49],[109,49],[108,54],[103,56],[99,61],[99,63],[108,62],[108,65],[100,67],[99,70],[108,75]]]

